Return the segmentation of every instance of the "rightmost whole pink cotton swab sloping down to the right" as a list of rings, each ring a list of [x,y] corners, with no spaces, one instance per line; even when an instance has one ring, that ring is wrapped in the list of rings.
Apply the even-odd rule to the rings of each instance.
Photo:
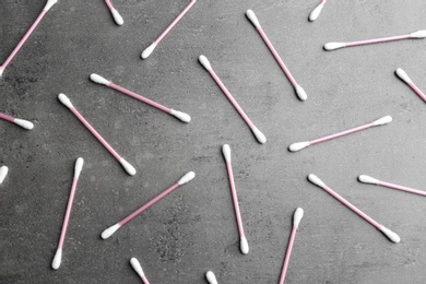
[[[320,180],[316,175],[312,175],[310,174],[308,176],[308,179],[310,182],[312,182],[313,185],[322,188],[323,190],[326,190],[329,194],[331,194],[333,198],[335,198],[336,200],[339,200],[340,202],[342,202],[344,205],[346,205],[348,209],[351,209],[352,211],[354,211],[356,214],[358,214],[360,217],[363,217],[365,221],[367,221],[368,223],[370,223],[372,226],[375,226],[378,230],[380,230],[381,233],[383,233],[384,236],[387,236],[391,241],[393,242],[400,242],[400,237],[393,233],[392,230],[390,230],[389,228],[384,227],[383,225],[380,225],[379,223],[377,223],[376,221],[374,221],[372,218],[370,218],[367,214],[365,214],[363,211],[360,211],[359,209],[357,209],[355,205],[353,205],[351,202],[348,202],[347,200],[345,200],[344,198],[342,198],[341,196],[339,196],[336,192],[334,192],[331,188],[329,188],[328,186],[326,186],[324,182],[322,182],[322,180]]]

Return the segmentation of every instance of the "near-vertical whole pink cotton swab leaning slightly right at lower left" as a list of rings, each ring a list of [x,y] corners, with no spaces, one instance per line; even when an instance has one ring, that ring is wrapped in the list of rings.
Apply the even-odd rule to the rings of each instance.
[[[66,216],[63,218],[61,236],[59,238],[59,244],[58,244],[58,248],[57,248],[56,253],[55,253],[54,261],[51,262],[51,268],[55,270],[59,269],[59,267],[61,265],[63,241],[66,240],[67,227],[68,227],[68,222],[70,221],[72,202],[73,202],[74,196],[75,196],[76,184],[79,182],[79,177],[80,177],[80,174],[83,169],[83,164],[84,164],[84,159],[82,157],[79,157],[75,162],[74,178],[72,179],[71,192],[70,192],[70,197],[68,199],[67,211],[66,211]]]

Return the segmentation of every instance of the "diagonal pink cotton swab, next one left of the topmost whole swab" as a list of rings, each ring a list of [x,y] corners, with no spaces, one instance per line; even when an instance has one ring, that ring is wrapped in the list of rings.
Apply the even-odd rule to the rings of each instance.
[[[267,138],[263,135],[262,132],[251,122],[251,120],[248,118],[246,113],[244,113],[242,108],[238,105],[237,100],[233,97],[233,95],[229,93],[229,91],[226,88],[226,86],[222,83],[221,79],[216,75],[214,72],[212,66],[209,62],[209,59],[205,56],[199,57],[200,63],[205,68],[205,70],[209,71],[210,75],[213,78],[213,80],[217,83],[217,85],[221,87],[222,92],[226,95],[226,97],[229,99],[230,104],[237,109],[238,114],[242,117],[242,119],[246,121],[247,126],[251,129],[251,132],[253,132],[256,139],[259,141],[259,143],[263,144],[267,142]]]

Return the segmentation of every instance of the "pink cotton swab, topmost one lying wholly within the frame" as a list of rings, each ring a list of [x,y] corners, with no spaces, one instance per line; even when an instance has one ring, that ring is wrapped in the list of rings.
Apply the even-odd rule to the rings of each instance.
[[[267,44],[268,48],[271,50],[272,55],[274,56],[275,60],[280,64],[281,69],[284,71],[285,75],[288,78],[289,82],[292,83],[293,87],[296,91],[296,94],[300,100],[306,100],[308,96],[306,95],[305,90],[297,84],[296,80],[289,72],[288,68],[285,66],[284,61],[281,59],[279,52],[276,52],[275,48],[269,40],[267,34],[263,32],[263,28],[260,26],[259,20],[256,16],[255,12],[251,10],[247,10],[246,12],[247,17],[250,20],[250,22],[255,25],[256,29],[258,29],[260,36],[262,37],[263,42]]]

